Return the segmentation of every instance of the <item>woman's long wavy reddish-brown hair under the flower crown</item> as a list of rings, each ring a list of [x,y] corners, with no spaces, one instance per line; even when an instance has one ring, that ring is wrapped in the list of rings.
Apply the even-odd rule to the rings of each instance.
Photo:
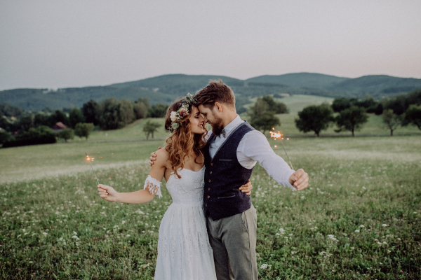
[[[172,125],[171,112],[177,111],[181,108],[182,101],[185,98],[177,100],[171,106],[168,107],[165,116],[165,129],[170,131]],[[203,124],[203,134],[194,134],[192,132],[192,126],[190,124],[189,116],[193,113],[193,106],[189,106],[189,115],[185,116],[182,120],[176,120],[180,123],[180,126],[166,139],[166,151],[170,154],[169,161],[171,162],[171,168],[175,175],[180,179],[181,176],[178,174],[178,169],[184,168],[185,161],[188,160],[190,151],[194,152],[196,158],[200,155],[200,149],[206,145],[205,135],[208,132],[205,125]],[[194,160],[196,162],[196,159]],[[199,162],[196,162],[199,163]]]

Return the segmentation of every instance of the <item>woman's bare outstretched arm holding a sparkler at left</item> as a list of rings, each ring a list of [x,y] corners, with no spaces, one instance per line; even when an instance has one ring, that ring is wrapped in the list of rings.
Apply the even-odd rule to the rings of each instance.
[[[161,197],[161,181],[166,169],[165,149],[156,152],[156,162],[151,168],[151,172],[145,181],[143,190],[137,190],[131,193],[118,193],[114,188],[105,185],[98,185],[100,197],[109,202],[123,202],[128,204],[142,204],[150,202],[155,195]]]

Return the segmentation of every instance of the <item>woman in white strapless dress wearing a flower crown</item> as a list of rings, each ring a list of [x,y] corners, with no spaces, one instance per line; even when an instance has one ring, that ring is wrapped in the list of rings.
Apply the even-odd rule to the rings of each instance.
[[[207,130],[194,102],[194,97],[187,94],[168,107],[165,127],[172,134],[166,139],[166,147],[156,151],[156,162],[143,190],[118,193],[110,186],[98,185],[104,200],[142,204],[155,195],[162,196],[161,180],[165,178],[173,203],[159,227],[155,280],[216,280],[203,213],[205,167],[201,148],[206,144]],[[248,182],[239,189],[250,195],[251,188]]]

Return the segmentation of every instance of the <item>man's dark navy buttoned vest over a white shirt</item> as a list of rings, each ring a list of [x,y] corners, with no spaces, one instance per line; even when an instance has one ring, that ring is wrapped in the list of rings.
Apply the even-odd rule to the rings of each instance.
[[[250,196],[241,193],[239,188],[250,179],[254,167],[242,167],[236,156],[241,139],[251,130],[254,128],[247,122],[234,128],[213,159],[210,158],[209,146],[215,140],[215,134],[203,148],[206,167],[203,207],[213,221],[239,214],[251,207]]]

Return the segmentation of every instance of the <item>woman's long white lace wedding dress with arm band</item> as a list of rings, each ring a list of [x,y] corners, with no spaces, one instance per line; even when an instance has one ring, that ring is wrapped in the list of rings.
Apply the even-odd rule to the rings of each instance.
[[[204,166],[199,172],[180,169],[181,179],[171,174],[166,183],[173,203],[159,227],[154,280],[216,280],[203,215],[204,171]],[[149,191],[161,195],[156,180],[150,176],[148,179],[145,186],[149,186]]]

